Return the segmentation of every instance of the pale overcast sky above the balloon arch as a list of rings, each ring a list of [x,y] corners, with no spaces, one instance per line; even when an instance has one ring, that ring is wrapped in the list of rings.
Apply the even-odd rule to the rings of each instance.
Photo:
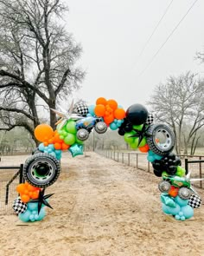
[[[76,97],[88,104],[103,96],[115,99],[125,109],[134,103],[146,105],[156,84],[165,82],[169,75],[188,70],[204,75],[204,64],[194,60],[196,51],[204,49],[204,1],[198,0],[183,20],[194,0],[66,2],[67,29],[82,45],[79,64],[86,70]],[[172,30],[175,32],[150,63]]]

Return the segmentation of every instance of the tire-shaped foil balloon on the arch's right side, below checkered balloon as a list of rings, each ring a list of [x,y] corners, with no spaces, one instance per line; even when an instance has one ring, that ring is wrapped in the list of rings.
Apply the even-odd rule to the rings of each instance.
[[[175,147],[175,135],[165,124],[150,125],[146,135],[147,144],[155,154],[169,154]]]

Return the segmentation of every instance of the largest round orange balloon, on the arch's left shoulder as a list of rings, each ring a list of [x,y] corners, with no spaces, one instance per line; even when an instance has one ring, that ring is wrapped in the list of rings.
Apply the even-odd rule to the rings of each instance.
[[[54,135],[54,130],[46,123],[39,124],[34,131],[35,138],[38,141],[47,141],[51,139]]]

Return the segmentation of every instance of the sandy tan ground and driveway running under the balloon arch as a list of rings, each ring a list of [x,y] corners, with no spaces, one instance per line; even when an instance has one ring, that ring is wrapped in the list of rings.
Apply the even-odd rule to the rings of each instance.
[[[192,220],[168,217],[160,178],[95,153],[63,154],[61,165],[44,220],[0,216],[1,256],[204,255],[204,207]]]

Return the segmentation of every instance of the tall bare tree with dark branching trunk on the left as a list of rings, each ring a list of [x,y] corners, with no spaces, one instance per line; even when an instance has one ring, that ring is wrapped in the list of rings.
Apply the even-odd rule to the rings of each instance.
[[[0,112],[3,129],[26,128],[32,135],[41,106],[50,108],[80,88],[76,67],[80,44],[62,26],[61,0],[0,0]]]

